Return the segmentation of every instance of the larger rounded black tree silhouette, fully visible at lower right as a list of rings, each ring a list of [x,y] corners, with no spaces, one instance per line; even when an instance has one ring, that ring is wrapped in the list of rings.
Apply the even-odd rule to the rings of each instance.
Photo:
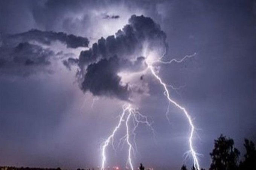
[[[238,169],[240,152],[234,147],[233,139],[221,136],[214,141],[214,149],[210,156],[212,164],[209,170],[236,170]]]

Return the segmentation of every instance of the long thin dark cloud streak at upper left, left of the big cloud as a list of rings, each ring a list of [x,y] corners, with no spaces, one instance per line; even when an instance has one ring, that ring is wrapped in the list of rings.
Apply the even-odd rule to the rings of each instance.
[[[43,44],[50,45],[52,41],[60,41],[67,45],[67,48],[88,47],[89,41],[87,38],[75,35],[67,35],[63,32],[29,30],[28,32],[18,33],[8,36],[14,41],[38,41]]]

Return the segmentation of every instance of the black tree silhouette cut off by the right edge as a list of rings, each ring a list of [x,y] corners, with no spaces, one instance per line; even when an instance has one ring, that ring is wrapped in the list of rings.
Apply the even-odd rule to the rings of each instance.
[[[244,147],[246,153],[244,155],[244,161],[240,163],[240,170],[256,170],[256,150],[254,143],[248,139],[244,140]]]

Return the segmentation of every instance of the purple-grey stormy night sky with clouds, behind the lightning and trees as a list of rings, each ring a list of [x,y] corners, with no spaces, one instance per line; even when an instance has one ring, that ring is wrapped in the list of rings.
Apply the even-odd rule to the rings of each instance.
[[[190,126],[145,61],[193,119],[200,165],[214,139],[256,141],[255,0],[1,0],[0,165],[101,165],[101,143],[130,103],[154,128],[136,130],[140,162],[191,167]],[[149,49],[149,50],[148,50]],[[115,140],[122,137],[122,127]],[[107,149],[125,167],[127,146]]]

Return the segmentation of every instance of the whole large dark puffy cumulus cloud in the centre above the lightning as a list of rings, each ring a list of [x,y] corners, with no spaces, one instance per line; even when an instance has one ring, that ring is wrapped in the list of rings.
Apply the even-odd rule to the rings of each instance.
[[[81,51],[79,59],[70,58],[64,65],[79,66],[78,78],[84,92],[128,100],[132,89],[122,83],[118,73],[142,70],[145,48],[160,55],[167,47],[165,40],[166,34],[151,18],[132,15],[115,36],[99,39],[89,50]]]

